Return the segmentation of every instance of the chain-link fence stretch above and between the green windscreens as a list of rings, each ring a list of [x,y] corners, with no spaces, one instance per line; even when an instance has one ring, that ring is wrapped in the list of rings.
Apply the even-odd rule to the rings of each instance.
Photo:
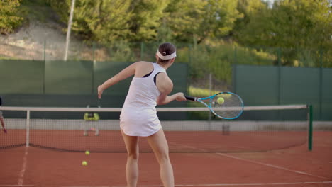
[[[65,40],[43,42],[12,42],[0,40],[0,60],[40,60],[44,62],[65,59]],[[176,62],[189,64],[189,92],[196,96],[214,91],[231,91],[233,64],[282,67],[332,67],[332,50],[240,47],[220,42],[219,45],[193,45],[174,42],[177,46]],[[67,60],[90,62],[155,62],[160,42],[118,41],[112,45],[96,42],[70,41]]]

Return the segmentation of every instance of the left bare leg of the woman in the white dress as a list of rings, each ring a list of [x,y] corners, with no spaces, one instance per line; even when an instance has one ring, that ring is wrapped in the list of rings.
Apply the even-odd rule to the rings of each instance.
[[[127,149],[126,179],[128,187],[135,187],[138,181],[138,137],[121,134]]]

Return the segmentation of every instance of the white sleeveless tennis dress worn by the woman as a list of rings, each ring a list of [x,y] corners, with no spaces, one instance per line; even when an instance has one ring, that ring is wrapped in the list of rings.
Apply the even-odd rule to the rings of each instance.
[[[147,137],[162,128],[157,117],[157,97],[160,91],[155,76],[166,73],[159,64],[153,64],[153,72],[145,77],[133,77],[120,115],[120,127],[126,135]]]

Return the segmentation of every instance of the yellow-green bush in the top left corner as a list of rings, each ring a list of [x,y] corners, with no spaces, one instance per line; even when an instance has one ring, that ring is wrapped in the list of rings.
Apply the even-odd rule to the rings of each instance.
[[[12,33],[21,26],[23,18],[19,14],[20,0],[0,1],[0,33]]]

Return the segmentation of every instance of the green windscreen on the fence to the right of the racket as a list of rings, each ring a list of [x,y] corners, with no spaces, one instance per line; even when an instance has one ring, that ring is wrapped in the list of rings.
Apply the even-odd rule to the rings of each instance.
[[[233,91],[246,106],[311,104],[314,120],[332,120],[332,69],[233,66]]]

